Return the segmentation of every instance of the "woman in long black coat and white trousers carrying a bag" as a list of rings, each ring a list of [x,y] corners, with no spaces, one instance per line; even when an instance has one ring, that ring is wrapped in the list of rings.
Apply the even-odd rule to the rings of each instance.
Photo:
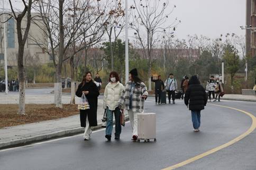
[[[85,94],[89,106],[89,109],[80,110],[80,122],[81,127],[85,127],[84,140],[87,141],[90,138],[92,129],[90,127],[97,126],[97,103],[98,103],[98,88],[92,81],[92,73],[86,72],[83,77],[83,81],[77,88],[76,95],[81,97]]]

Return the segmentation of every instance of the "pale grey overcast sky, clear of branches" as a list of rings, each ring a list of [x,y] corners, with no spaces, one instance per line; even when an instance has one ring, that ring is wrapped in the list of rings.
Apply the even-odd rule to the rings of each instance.
[[[4,1],[8,8],[8,1]],[[130,6],[133,0],[128,2]],[[2,3],[0,5],[2,8]],[[176,38],[186,39],[188,34],[204,35],[209,38],[217,38],[226,33],[245,35],[245,31],[240,28],[245,25],[246,1],[244,0],[169,0],[169,5],[177,6],[169,18],[177,17],[181,20],[175,32]],[[132,35],[132,31],[129,32]]]

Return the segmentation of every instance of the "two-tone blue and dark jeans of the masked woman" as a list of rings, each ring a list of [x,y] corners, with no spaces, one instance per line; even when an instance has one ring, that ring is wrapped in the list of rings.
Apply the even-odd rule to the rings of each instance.
[[[113,130],[113,114],[115,114],[115,137],[120,137],[122,127],[121,127],[121,112],[120,108],[116,107],[114,111],[110,111],[107,107],[107,126],[106,135],[112,135]]]

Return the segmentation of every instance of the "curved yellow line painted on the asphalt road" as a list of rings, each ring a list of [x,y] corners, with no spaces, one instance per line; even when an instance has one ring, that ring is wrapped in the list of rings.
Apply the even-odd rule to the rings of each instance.
[[[224,108],[234,109],[234,110],[236,110],[236,111],[242,112],[242,113],[244,113],[244,114],[250,116],[251,119],[252,119],[251,127],[250,127],[245,133],[243,133],[242,135],[240,135],[240,136],[234,138],[234,139],[233,139],[232,141],[230,141],[230,142],[227,142],[227,143],[225,143],[225,144],[223,144],[223,145],[221,145],[221,146],[215,147],[215,148],[213,148],[213,149],[211,149],[211,150],[209,150],[209,151],[207,151],[207,152],[205,152],[205,153],[203,153],[203,154],[197,155],[197,156],[195,156],[195,157],[192,157],[192,158],[190,158],[190,159],[187,159],[186,161],[180,162],[180,163],[178,163],[178,164],[176,164],[176,165],[172,165],[172,166],[167,167],[167,168],[164,168],[164,169],[162,169],[162,170],[175,169],[175,168],[178,168],[178,167],[187,165],[187,164],[189,164],[189,163],[191,163],[191,162],[194,162],[194,161],[196,161],[196,160],[198,160],[198,159],[200,159],[200,158],[203,158],[203,157],[205,157],[205,156],[207,156],[207,155],[210,155],[210,154],[213,154],[213,153],[215,153],[215,152],[217,152],[217,151],[220,151],[221,149],[223,149],[223,148],[225,148],[225,147],[227,147],[227,146],[230,146],[230,145],[232,145],[232,144],[234,144],[234,143],[240,141],[242,138],[244,138],[245,136],[247,136],[247,135],[249,135],[250,133],[252,133],[252,132],[254,131],[254,129],[256,128],[256,117],[253,116],[251,113],[245,112],[245,111],[242,111],[241,109],[237,109],[237,108],[233,108],[233,107],[222,106],[222,105],[215,105],[215,104],[211,104],[211,105],[219,106],[219,107],[224,107]]]

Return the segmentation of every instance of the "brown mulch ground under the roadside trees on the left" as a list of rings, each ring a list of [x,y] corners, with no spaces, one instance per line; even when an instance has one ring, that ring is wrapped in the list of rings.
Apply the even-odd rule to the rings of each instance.
[[[48,121],[62,117],[77,115],[77,105],[65,104],[63,108],[56,108],[53,104],[26,104],[26,114],[18,115],[18,105],[0,104],[0,128],[27,123]]]

